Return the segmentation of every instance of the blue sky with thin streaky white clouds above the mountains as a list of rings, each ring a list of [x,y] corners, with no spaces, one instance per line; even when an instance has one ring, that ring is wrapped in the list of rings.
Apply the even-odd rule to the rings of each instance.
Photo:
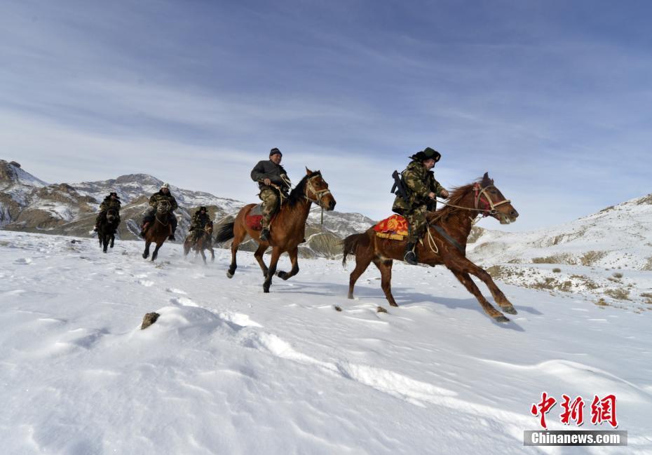
[[[485,171],[521,217],[652,192],[647,1],[0,4],[1,158],[47,182],[145,172],[254,201],[271,147],[337,209],[390,214],[424,147],[444,186]],[[481,226],[503,228],[485,220]]]

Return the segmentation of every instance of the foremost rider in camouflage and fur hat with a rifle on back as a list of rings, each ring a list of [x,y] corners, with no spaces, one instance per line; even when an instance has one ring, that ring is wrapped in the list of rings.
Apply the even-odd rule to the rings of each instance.
[[[409,225],[407,245],[403,259],[408,264],[416,265],[416,243],[426,229],[426,212],[428,205],[439,196],[447,198],[449,193],[437,180],[431,170],[440,160],[441,154],[435,149],[426,147],[423,151],[412,155],[412,161],[402,172],[402,182],[407,193],[407,201],[396,196],[392,211],[402,215]]]

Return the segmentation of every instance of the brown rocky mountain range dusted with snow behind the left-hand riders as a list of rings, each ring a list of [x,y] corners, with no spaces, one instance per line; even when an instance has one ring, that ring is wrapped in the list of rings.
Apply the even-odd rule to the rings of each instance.
[[[118,236],[137,240],[140,220],[149,208],[149,196],[161,188],[163,181],[147,174],[122,175],[100,182],[47,184],[30,175],[15,161],[0,160],[0,226],[2,229],[41,233],[88,236],[102,199],[116,191],[122,201]],[[217,224],[229,222],[245,205],[202,191],[190,191],[170,184],[179,203],[177,241],[184,238],[192,213],[201,205]],[[351,233],[365,231],[374,222],[358,213],[327,212],[320,224],[321,209],[313,208],[306,226],[306,243],[302,257],[336,257],[341,252],[339,240]],[[222,245],[228,246],[228,245]],[[254,250],[250,242],[243,249]]]

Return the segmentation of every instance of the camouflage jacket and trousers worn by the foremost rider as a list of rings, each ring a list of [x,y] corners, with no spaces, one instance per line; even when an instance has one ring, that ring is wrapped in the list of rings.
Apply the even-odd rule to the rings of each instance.
[[[428,197],[430,192],[441,196],[444,187],[435,180],[435,173],[426,170],[423,163],[413,160],[402,172],[402,182],[408,195],[405,201],[402,197],[396,196],[393,212],[405,217],[409,224],[407,241],[416,243],[426,231],[426,212],[428,205],[434,201]]]

